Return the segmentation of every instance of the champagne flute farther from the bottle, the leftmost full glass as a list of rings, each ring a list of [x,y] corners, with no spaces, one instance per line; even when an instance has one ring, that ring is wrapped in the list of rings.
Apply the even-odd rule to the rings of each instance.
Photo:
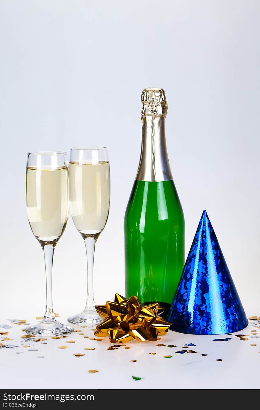
[[[25,332],[39,336],[66,335],[71,333],[73,328],[56,320],[52,302],[53,253],[66,227],[69,211],[69,175],[66,153],[28,153],[26,205],[32,233],[44,252],[46,308],[41,322],[29,326]]]

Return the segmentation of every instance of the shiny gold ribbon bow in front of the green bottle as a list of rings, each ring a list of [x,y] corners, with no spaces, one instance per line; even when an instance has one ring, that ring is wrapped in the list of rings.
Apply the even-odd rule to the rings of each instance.
[[[158,335],[164,335],[171,325],[159,317],[163,311],[159,303],[142,306],[136,296],[126,299],[116,293],[114,302],[97,305],[96,310],[104,320],[96,327],[94,335],[108,335],[111,343],[133,339],[156,342]]]

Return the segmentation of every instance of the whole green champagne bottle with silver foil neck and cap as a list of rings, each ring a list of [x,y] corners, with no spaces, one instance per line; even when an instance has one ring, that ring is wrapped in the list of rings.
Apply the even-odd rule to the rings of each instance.
[[[124,217],[125,293],[168,308],[184,266],[184,216],[166,148],[165,92],[144,89],[141,101],[142,149]]]

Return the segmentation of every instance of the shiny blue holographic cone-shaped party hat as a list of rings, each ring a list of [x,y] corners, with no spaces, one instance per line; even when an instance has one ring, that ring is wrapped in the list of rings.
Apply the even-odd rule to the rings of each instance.
[[[218,335],[244,329],[248,320],[212,225],[203,211],[168,321],[170,330]]]

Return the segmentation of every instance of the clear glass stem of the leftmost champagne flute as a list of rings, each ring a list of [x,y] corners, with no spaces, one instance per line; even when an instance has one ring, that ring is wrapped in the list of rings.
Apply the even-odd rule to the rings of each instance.
[[[46,273],[46,307],[43,322],[55,322],[55,314],[53,313],[53,303],[52,303],[52,263],[53,263],[53,245],[44,245],[44,262],[45,262],[45,273]]]

